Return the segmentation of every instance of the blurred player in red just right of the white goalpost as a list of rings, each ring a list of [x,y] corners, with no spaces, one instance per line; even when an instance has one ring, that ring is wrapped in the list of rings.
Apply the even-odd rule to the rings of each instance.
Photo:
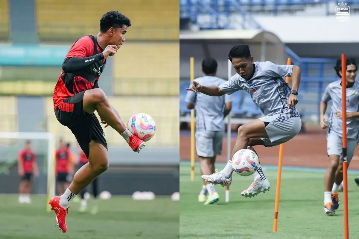
[[[74,156],[71,152],[71,147],[66,145],[60,139],[59,148],[56,150],[56,191],[58,195],[65,192],[72,180],[72,173],[74,170]]]

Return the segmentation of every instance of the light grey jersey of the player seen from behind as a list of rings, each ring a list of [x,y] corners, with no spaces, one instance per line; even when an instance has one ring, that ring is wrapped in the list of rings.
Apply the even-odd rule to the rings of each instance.
[[[225,80],[216,76],[203,76],[195,79],[202,86],[219,86]],[[224,106],[232,102],[231,96],[209,96],[203,93],[188,91],[185,101],[195,104],[196,131],[224,131]]]

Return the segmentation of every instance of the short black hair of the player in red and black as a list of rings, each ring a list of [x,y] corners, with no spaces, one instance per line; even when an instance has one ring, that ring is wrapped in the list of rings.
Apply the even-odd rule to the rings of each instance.
[[[123,25],[126,25],[127,27],[131,26],[131,21],[127,16],[118,11],[108,11],[100,20],[100,32],[105,33],[111,27],[122,28]]]

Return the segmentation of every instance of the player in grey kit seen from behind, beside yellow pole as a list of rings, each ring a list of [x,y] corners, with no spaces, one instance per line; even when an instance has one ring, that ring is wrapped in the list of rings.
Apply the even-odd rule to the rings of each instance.
[[[226,82],[215,76],[217,62],[213,58],[202,61],[202,71],[205,76],[196,79],[201,85],[219,86]],[[210,175],[214,173],[216,156],[222,154],[224,118],[232,109],[231,97],[213,97],[188,91],[185,101],[187,108],[195,109],[196,112],[196,151],[200,158],[201,171],[205,175]],[[214,185],[204,182],[198,200],[205,205],[217,202],[219,195]]]

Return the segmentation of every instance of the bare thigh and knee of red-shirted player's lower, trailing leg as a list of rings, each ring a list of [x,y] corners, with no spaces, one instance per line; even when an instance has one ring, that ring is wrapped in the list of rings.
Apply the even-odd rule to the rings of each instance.
[[[106,171],[108,168],[106,147],[94,140],[91,140],[88,160],[93,171],[98,171],[100,173]]]

